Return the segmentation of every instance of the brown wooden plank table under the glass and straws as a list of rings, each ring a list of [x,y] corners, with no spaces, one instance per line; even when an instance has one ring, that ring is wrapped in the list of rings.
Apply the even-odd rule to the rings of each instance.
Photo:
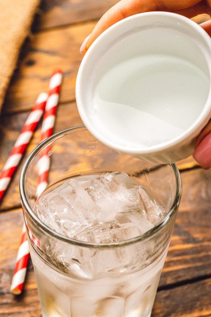
[[[54,132],[82,123],[75,102],[76,74],[82,60],[79,48],[96,20],[115,2],[45,0],[41,3],[32,32],[23,45],[1,113],[0,170],[36,97],[41,91],[47,91],[54,68],[64,71]],[[23,162],[39,143],[39,138],[40,126],[0,206],[2,317],[41,316],[31,262],[23,294],[15,297],[9,292],[23,223],[18,180]],[[192,158],[178,165],[183,196],[152,317],[211,316],[211,170],[202,170]]]

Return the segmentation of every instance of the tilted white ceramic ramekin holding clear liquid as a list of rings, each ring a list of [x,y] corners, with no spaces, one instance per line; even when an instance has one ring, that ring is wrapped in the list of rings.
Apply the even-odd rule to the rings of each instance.
[[[155,30],[159,30],[158,36]],[[133,56],[144,54],[183,58],[202,69],[209,78],[207,101],[197,119],[177,137],[148,147],[126,146],[116,142],[112,135],[109,136],[106,129],[101,128],[101,123],[91,115],[93,94],[97,83],[110,68]],[[211,39],[200,26],[173,13],[141,13],[111,26],[88,49],[76,81],[78,111],[87,129],[107,146],[155,163],[175,162],[193,153],[195,138],[211,117],[210,78]],[[189,107],[191,111],[191,105]],[[109,129],[109,120],[106,125]]]

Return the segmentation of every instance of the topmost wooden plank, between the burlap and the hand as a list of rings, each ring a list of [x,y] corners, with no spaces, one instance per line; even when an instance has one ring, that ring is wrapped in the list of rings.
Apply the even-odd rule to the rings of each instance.
[[[33,32],[99,19],[118,0],[42,0]]]

